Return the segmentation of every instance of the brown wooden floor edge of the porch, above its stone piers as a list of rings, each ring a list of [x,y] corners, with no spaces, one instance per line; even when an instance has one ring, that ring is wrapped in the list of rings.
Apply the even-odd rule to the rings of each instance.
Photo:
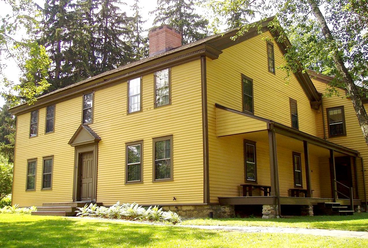
[[[269,205],[276,204],[276,196],[219,197],[223,205]],[[318,202],[334,202],[333,198],[280,197],[281,205],[317,205]],[[349,199],[336,199],[341,205],[350,205]],[[361,200],[354,199],[354,205]]]

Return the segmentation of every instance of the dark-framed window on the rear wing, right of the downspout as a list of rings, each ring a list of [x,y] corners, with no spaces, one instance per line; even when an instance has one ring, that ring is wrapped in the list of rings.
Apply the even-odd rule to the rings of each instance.
[[[328,108],[326,112],[329,136],[346,135],[344,107]]]

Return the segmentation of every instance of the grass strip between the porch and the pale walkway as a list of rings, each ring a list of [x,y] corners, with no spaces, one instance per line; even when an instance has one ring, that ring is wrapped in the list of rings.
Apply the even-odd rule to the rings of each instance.
[[[193,219],[185,220],[184,225],[210,226],[269,226],[304,227],[348,231],[368,231],[368,213],[354,213],[348,216],[295,216],[280,219],[231,218],[231,219]]]

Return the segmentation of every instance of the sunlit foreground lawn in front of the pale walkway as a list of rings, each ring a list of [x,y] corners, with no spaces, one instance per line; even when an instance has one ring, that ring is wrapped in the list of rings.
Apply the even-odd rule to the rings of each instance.
[[[0,247],[368,247],[367,239],[209,231],[110,220],[0,214]]]

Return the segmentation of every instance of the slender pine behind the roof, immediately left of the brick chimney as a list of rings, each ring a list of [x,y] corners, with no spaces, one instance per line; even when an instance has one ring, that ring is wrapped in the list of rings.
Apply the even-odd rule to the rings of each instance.
[[[134,4],[131,6],[134,12],[131,18],[132,25],[132,37],[131,46],[134,53],[134,59],[140,60],[141,58],[148,57],[148,36],[143,36],[142,33],[145,31],[142,25],[146,22],[142,20],[142,16],[139,14],[141,7],[139,7],[139,0],[134,0]]]

